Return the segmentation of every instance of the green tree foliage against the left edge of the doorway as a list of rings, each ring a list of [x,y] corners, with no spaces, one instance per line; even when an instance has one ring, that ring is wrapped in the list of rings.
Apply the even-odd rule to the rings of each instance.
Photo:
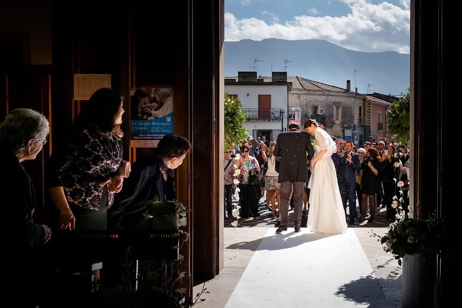
[[[231,143],[241,143],[246,137],[246,129],[242,126],[246,114],[241,112],[242,104],[238,98],[229,98],[229,93],[224,97],[224,150],[231,148]]]

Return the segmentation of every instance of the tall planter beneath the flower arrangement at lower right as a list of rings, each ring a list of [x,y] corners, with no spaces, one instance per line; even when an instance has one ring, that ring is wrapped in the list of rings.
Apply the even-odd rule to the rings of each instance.
[[[433,307],[436,299],[436,264],[420,254],[402,258],[402,307]]]

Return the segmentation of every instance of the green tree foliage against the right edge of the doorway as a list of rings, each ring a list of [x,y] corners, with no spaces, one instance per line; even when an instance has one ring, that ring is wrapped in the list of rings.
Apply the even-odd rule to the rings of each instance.
[[[396,136],[394,142],[405,144],[409,141],[409,88],[408,93],[401,94],[402,97],[387,111],[387,124],[388,130]]]

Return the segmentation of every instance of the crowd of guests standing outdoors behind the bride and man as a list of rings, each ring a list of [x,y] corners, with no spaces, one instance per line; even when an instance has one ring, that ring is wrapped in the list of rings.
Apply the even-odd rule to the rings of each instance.
[[[297,124],[291,124],[289,130],[298,130]],[[322,124],[320,127],[323,128]],[[338,186],[345,209],[345,219],[350,225],[356,222],[373,222],[380,215],[380,207],[386,207],[384,217],[394,220],[397,208],[401,206],[408,211],[409,182],[407,173],[410,167],[409,147],[391,143],[387,138],[373,137],[356,148],[350,140],[332,137],[337,146],[337,153],[332,160],[337,172]],[[312,138],[312,144],[316,142]],[[260,219],[259,200],[266,197],[268,218],[276,217],[276,226],[280,225],[279,204],[280,183],[278,171],[280,157],[273,151],[275,141],[267,141],[265,137],[254,140],[251,136],[240,145],[232,144],[224,153],[224,210],[225,219],[235,220],[233,216],[233,196],[239,191],[239,217],[246,221],[250,216]],[[236,173],[239,170],[239,173]],[[403,186],[397,183],[402,181]],[[400,192],[402,190],[402,193]],[[305,186],[303,213],[309,210],[310,189]],[[401,201],[399,200],[400,198]],[[294,208],[291,195],[290,205]],[[359,204],[357,213],[356,200]],[[276,208],[276,201],[278,210]],[[349,208],[349,214],[347,214]]]

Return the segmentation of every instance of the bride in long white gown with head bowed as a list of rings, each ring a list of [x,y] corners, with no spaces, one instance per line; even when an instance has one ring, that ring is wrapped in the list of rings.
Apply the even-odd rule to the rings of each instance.
[[[312,174],[308,183],[311,190],[307,227],[318,233],[344,233],[347,220],[331,158],[337,147],[331,136],[318,126],[312,119],[304,124],[305,131],[316,138],[315,156],[310,163]]]

